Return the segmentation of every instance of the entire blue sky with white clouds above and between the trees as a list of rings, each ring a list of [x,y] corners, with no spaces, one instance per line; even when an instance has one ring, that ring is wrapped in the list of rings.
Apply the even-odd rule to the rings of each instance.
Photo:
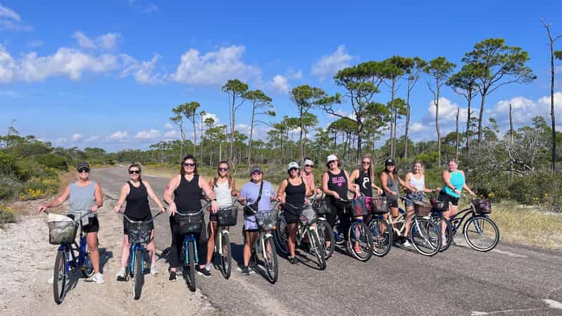
[[[16,119],[21,134],[54,145],[145,149],[177,138],[170,109],[183,102],[197,101],[227,123],[220,86],[229,78],[268,93],[278,116],[295,116],[287,91],[296,85],[342,92],[332,80],[339,68],[396,54],[446,56],[460,66],[463,54],[489,37],[529,51],[539,78],[490,95],[485,116],[505,129],[509,102],[519,124],[549,112],[549,51],[540,19],[562,34],[560,1],[239,2],[0,0],[0,130]],[[387,102],[388,90],[383,85],[376,101]],[[556,91],[562,114],[561,80]],[[456,107],[463,113],[466,104],[449,88],[442,97],[440,125],[448,132]],[[422,78],[411,102],[414,140],[435,137],[431,101]],[[341,111],[348,114],[349,104]],[[248,114],[249,104],[237,118],[244,133]],[[333,120],[316,114],[320,126]],[[263,135],[266,126],[258,127]]]

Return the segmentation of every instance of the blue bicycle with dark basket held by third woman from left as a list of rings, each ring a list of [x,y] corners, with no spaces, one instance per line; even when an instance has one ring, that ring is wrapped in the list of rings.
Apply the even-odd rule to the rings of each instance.
[[[177,217],[175,218],[176,224],[179,227],[179,233],[184,235],[182,252],[180,258],[183,258],[183,272],[189,270],[189,290],[194,292],[196,289],[195,282],[195,264],[199,262],[199,254],[197,253],[196,233],[201,233],[204,223],[204,209],[211,205],[207,202],[199,212],[182,213],[176,211]],[[229,244],[230,245],[230,244]],[[181,260],[181,259],[180,259]]]

